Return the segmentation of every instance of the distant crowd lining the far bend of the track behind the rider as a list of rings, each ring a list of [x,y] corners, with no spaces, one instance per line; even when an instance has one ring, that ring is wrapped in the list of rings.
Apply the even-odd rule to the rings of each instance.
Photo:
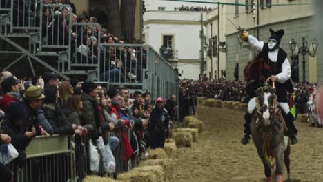
[[[207,97],[213,99],[220,99],[222,101],[239,101],[241,103],[248,103],[251,97],[248,96],[246,86],[248,83],[244,81],[228,81],[226,79],[207,79],[180,81],[181,92],[179,94],[179,104],[183,105],[184,116],[186,113],[192,114],[195,110],[193,105],[196,105],[197,97]],[[320,118],[317,118],[320,92],[322,92],[322,83],[293,83],[294,92],[288,92],[289,105],[294,117],[297,114],[314,113],[315,123],[321,126]],[[321,89],[320,89],[321,88]],[[321,91],[320,91],[321,90]],[[184,97],[183,97],[184,96]],[[186,105],[190,105],[190,109]],[[313,124],[314,125],[314,124]],[[315,124],[316,125],[316,124]]]

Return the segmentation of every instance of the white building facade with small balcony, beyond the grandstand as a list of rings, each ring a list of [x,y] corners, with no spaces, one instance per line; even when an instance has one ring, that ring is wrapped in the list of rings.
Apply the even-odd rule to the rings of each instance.
[[[201,14],[206,11],[179,10],[182,7],[213,8],[214,4],[183,3],[175,1],[145,1],[144,41],[159,50],[173,68],[177,68],[181,79],[198,79],[200,74]],[[206,28],[203,26],[204,37]],[[206,53],[204,70],[206,70]]]

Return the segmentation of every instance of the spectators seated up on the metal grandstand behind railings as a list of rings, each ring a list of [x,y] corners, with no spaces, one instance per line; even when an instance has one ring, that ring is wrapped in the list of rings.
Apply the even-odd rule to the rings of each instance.
[[[17,20],[14,25],[32,26],[30,22],[39,25],[42,45],[48,46],[50,51],[70,48],[68,57],[71,62],[79,64],[84,70],[93,70],[93,66],[99,63],[100,81],[141,82],[141,70],[146,68],[147,48],[104,45],[125,43],[109,33],[104,10],[91,6],[88,13],[77,14],[75,5],[70,0],[44,0],[43,10],[39,10],[38,1],[28,0],[30,6],[23,6],[25,3],[19,3],[20,1],[14,1],[17,12],[14,16],[18,16],[14,18]],[[34,9],[35,16],[28,13]],[[134,38],[132,42],[126,43],[144,42]]]

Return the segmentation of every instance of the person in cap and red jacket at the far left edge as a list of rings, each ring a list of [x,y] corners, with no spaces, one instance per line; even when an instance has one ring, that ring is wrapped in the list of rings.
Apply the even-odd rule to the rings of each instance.
[[[1,110],[4,110],[8,105],[10,105],[10,103],[21,103],[23,101],[23,98],[19,93],[19,83],[20,81],[15,79],[13,76],[3,80],[1,88],[5,94],[3,94],[3,98],[0,100]]]

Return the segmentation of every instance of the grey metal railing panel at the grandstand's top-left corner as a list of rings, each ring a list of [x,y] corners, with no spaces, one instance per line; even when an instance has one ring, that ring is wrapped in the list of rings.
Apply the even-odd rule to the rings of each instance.
[[[13,30],[39,30],[39,8],[43,1],[11,0],[11,17]]]

